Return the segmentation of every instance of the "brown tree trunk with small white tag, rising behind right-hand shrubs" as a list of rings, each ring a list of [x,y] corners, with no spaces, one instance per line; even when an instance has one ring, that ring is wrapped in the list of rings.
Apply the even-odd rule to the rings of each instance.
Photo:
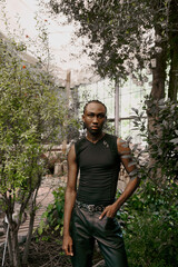
[[[155,1],[155,8],[158,10],[161,8],[159,1]],[[161,10],[161,9],[160,9]],[[156,21],[160,21],[160,14],[158,12],[158,17],[155,18]],[[167,41],[162,36],[162,28],[160,23],[157,23],[155,27],[155,66],[152,66],[152,88],[150,93],[150,101],[148,101],[147,106],[147,115],[148,115],[148,132],[151,138],[151,135],[160,135],[160,127],[157,122],[157,112],[158,106],[152,100],[159,101],[165,98],[165,81],[166,81],[166,61],[167,61]],[[156,161],[151,155],[151,145],[149,146],[149,168],[151,169],[150,177],[155,182],[160,181],[161,179],[161,170],[159,168],[155,169]]]

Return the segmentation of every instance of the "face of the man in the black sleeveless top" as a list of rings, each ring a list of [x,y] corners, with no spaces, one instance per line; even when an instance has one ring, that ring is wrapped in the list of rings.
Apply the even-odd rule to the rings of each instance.
[[[82,121],[91,135],[100,134],[106,121],[105,107],[101,103],[97,102],[89,103],[82,116]]]

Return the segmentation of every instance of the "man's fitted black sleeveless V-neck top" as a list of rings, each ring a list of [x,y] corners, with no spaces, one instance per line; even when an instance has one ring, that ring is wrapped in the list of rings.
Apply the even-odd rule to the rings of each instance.
[[[117,137],[106,134],[96,144],[85,137],[75,148],[80,170],[77,200],[90,205],[112,204],[120,170]]]

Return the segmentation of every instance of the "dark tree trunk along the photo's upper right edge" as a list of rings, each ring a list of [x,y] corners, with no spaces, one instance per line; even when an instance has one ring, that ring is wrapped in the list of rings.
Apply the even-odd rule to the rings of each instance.
[[[176,101],[178,93],[178,1],[170,1],[169,10],[170,72],[168,97]]]

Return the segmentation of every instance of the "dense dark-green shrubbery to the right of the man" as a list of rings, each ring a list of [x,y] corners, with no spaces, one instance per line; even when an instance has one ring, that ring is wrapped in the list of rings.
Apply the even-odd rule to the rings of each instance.
[[[178,266],[178,106],[147,99],[149,126],[136,110],[147,141],[137,150],[141,184],[120,212],[131,267]],[[148,158],[144,160],[144,156]]]

